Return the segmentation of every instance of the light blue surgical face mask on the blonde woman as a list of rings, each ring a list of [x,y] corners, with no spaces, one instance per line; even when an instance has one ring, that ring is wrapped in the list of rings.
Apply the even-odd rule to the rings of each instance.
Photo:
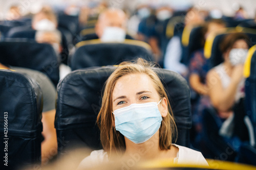
[[[162,115],[157,106],[160,102],[131,104],[115,110],[116,130],[134,143],[147,141],[160,128]]]

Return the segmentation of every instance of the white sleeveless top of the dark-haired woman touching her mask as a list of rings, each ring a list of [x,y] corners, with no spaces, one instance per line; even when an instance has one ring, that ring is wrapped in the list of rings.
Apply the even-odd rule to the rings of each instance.
[[[223,63],[217,65],[214,67],[215,71],[219,75],[221,79],[221,83],[223,88],[227,88],[228,85],[230,84],[230,77],[227,75],[226,69],[223,65]],[[236,96],[235,96],[235,102],[238,102],[241,98],[244,98],[245,96],[245,91],[244,91],[244,85],[245,85],[245,79],[242,79],[242,81],[239,83]]]

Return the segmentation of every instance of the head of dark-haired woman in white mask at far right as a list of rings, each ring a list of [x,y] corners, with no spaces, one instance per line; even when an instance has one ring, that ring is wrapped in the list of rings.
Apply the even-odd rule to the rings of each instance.
[[[232,66],[245,62],[249,47],[249,37],[244,33],[227,34],[220,44],[224,61]]]

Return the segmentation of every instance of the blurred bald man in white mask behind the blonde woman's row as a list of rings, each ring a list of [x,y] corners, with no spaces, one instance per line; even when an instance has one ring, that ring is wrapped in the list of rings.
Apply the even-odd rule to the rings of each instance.
[[[82,40],[100,39],[102,42],[122,42],[133,39],[126,34],[127,16],[121,9],[106,9],[100,13],[95,25],[96,34],[88,34]]]

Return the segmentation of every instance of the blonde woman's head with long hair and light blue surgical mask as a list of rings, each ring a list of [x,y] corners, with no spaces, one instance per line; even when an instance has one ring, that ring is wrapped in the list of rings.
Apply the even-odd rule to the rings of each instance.
[[[170,149],[176,125],[163,84],[150,64],[139,59],[111,74],[97,123],[102,147],[110,156],[129,144],[154,139],[161,150]]]

